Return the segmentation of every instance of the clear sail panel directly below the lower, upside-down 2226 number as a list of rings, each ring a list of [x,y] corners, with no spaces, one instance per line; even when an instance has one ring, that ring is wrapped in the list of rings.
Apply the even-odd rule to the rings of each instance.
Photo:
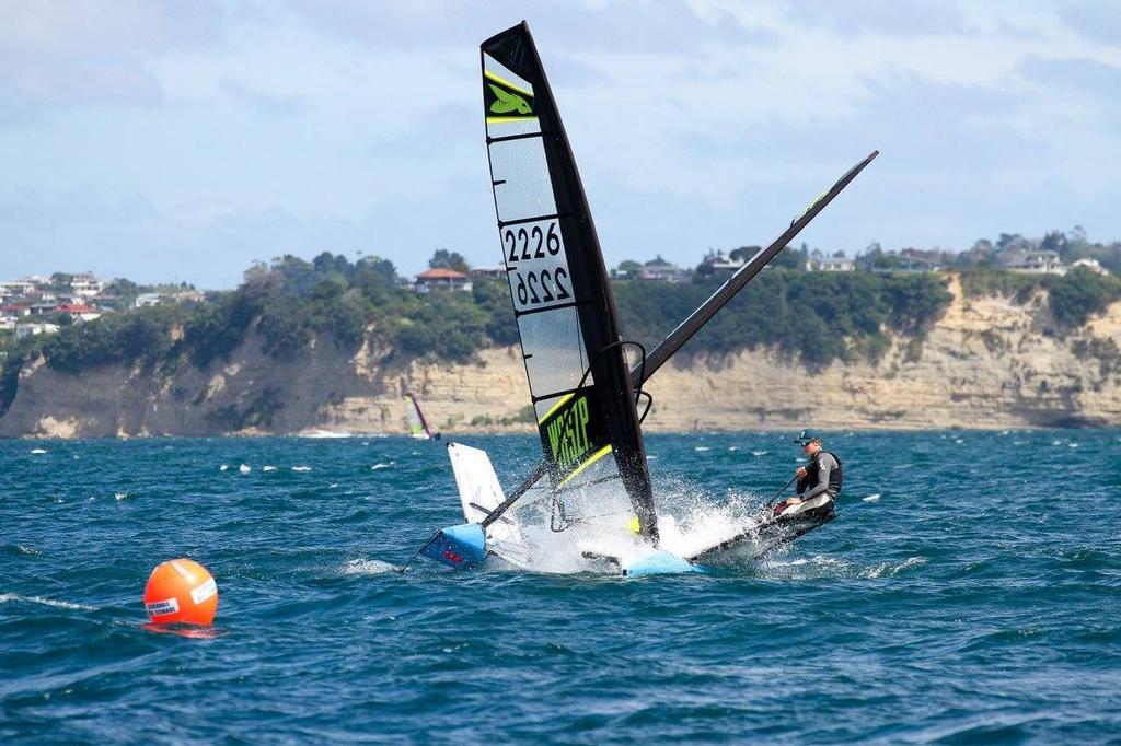
[[[518,330],[534,397],[569,391],[580,384],[589,361],[575,308],[522,316],[518,319]]]

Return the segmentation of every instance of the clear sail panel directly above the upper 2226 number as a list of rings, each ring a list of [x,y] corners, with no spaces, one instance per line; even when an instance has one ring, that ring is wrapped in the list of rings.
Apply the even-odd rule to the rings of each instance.
[[[500,222],[556,214],[553,184],[540,139],[495,142],[490,146],[490,159],[494,205]]]

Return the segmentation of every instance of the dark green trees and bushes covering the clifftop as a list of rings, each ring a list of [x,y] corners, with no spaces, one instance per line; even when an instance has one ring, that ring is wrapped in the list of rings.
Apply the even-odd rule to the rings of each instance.
[[[1018,236],[1006,237],[1001,242],[1011,244]],[[750,254],[751,249],[736,251]],[[1000,295],[1026,302],[1046,291],[1050,315],[1063,328],[1078,327],[1121,299],[1115,276],[1081,267],[1063,276],[1015,273],[998,269],[985,251],[974,246],[971,255],[978,261],[957,270],[966,297]],[[882,253],[871,255],[886,261]],[[926,329],[952,298],[943,272],[879,265],[812,272],[806,271],[812,257],[805,248],[780,259],[683,352],[724,355],[768,347],[810,367],[874,361],[888,349],[891,333],[909,337],[920,349]],[[630,264],[630,270],[641,269]],[[448,251],[436,252],[429,265],[467,269],[460,254]],[[612,287],[624,335],[652,348],[725,278],[702,265],[687,282],[617,279]],[[17,341],[9,334],[0,337],[0,413],[16,395],[20,370],[40,358],[70,374],[112,364],[163,372],[183,365],[202,369],[229,358],[251,330],[262,352],[278,360],[304,354],[313,339],[348,352],[369,344],[402,363],[426,356],[464,362],[484,347],[516,344],[504,281],[472,279],[469,291],[417,292],[391,262],[376,257],[352,262],[327,252],[313,261],[286,255],[251,267],[234,290],[132,309],[122,304],[118,313],[68,323],[49,335]],[[136,295],[137,286],[128,280],[111,287]]]

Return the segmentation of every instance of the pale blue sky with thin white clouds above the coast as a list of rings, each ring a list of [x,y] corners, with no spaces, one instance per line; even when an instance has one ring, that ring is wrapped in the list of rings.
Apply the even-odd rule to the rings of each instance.
[[[604,255],[1121,239],[1121,1],[0,0],[0,279],[497,265],[479,43],[529,21]]]

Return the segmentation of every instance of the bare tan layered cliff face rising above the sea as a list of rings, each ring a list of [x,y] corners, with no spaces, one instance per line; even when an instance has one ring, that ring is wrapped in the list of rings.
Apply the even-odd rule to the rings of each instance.
[[[1067,336],[1050,332],[1040,297],[954,301],[921,342],[893,338],[876,363],[819,371],[765,352],[663,367],[647,430],[1017,428],[1121,425],[1121,304]],[[231,361],[154,375],[109,366],[71,375],[26,370],[0,437],[402,432],[400,394],[416,392],[445,431],[522,430],[528,403],[516,348],[480,363],[395,364],[364,346],[318,339],[276,361],[250,335]]]

